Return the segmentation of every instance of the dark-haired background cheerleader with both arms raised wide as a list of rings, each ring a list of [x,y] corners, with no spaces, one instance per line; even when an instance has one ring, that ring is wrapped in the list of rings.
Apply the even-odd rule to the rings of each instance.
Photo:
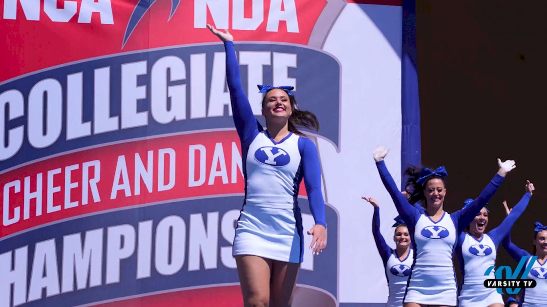
[[[467,208],[452,214],[445,212],[443,205],[446,196],[446,170],[444,167],[435,170],[422,169],[416,180],[415,192],[423,195],[426,205],[425,211],[420,212],[398,191],[383,162],[387,152],[383,147],[377,147],[373,157],[384,186],[409,228],[415,253],[404,306],[456,306],[456,276],[452,263],[456,239],[497,191],[505,175],[515,168],[515,162],[501,162],[498,159],[498,172],[479,197]]]

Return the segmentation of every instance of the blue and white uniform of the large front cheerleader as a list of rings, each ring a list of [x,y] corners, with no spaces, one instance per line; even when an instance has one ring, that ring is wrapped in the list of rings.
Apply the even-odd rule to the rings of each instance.
[[[302,178],[315,223],[327,227],[316,146],[294,133],[279,142],[270,137],[254,117],[243,92],[234,43],[225,42],[224,47],[226,79],[241,140],[245,178],[245,200],[237,221],[234,256],[302,262],[304,238],[297,199]]]

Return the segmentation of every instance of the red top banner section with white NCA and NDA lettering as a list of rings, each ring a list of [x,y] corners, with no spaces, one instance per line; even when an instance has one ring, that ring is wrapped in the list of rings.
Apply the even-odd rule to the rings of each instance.
[[[53,8],[49,1],[38,2],[43,1],[5,0],[0,5],[0,29],[10,42],[8,48],[0,48],[0,58],[18,63],[0,70],[0,82],[119,52],[217,43],[207,23],[230,29],[240,42],[306,45],[327,4],[325,0],[76,0]]]

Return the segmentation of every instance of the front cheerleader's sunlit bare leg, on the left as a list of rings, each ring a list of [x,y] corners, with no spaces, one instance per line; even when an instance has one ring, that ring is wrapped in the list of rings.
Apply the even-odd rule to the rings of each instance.
[[[267,307],[270,303],[272,261],[251,256],[235,256],[245,307]]]

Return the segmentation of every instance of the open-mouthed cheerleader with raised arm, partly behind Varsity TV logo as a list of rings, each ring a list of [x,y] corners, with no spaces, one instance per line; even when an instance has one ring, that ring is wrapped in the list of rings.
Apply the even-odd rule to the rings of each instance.
[[[496,264],[499,243],[511,231],[516,220],[526,209],[533,191],[534,184],[527,180],[526,193],[520,202],[515,205],[515,210],[490,232],[484,233],[488,225],[488,210],[482,208],[469,224],[468,231],[459,235],[456,254],[459,268],[462,270],[463,285],[458,297],[458,306],[504,306],[502,295],[495,288],[486,288],[484,286],[486,279],[496,279],[493,270],[488,276],[485,276],[484,272]],[[472,201],[473,199],[466,200],[463,208],[470,205]]]

